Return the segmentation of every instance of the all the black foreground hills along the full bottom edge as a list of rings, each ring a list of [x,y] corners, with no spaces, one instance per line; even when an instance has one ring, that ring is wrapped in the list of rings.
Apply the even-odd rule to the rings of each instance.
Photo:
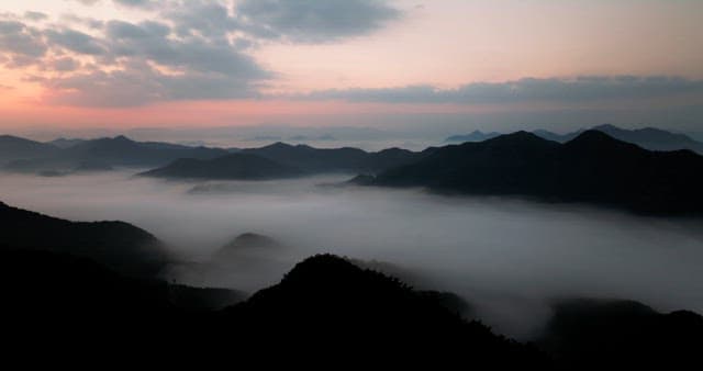
[[[280,283],[242,301],[226,290],[125,278],[65,254],[1,250],[0,291],[3,335],[12,339],[5,351],[80,349],[79,358],[681,369],[695,364],[703,336],[703,317],[691,312],[665,315],[634,302],[576,300],[555,307],[535,346],[523,345],[461,319],[443,295],[330,255],[305,259]],[[227,303],[237,304],[220,310]]]

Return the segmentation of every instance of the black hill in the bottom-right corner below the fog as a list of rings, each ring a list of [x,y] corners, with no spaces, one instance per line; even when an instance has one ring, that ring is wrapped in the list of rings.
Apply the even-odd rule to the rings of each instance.
[[[538,344],[563,369],[684,370],[700,362],[703,317],[695,313],[588,299],[558,302],[554,310]]]

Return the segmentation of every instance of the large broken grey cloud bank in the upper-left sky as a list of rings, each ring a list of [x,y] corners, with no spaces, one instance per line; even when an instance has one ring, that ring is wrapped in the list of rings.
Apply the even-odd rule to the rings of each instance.
[[[38,12],[0,15],[0,65],[34,68],[25,78],[48,88],[46,100],[60,104],[256,98],[276,75],[250,56],[258,40],[323,43],[373,32],[399,15],[372,0],[113,3],[148,20],[69,15],[56,24]]]

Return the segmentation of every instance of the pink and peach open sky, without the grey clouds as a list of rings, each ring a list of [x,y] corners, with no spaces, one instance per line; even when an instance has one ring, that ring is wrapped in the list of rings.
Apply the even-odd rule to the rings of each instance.
[[[348,29],[332,30],[330,26],[327,30],[316,23],[293,22],[291,25],[280,20],[259,19],[257,16],[261,15],[252,11],[246,14],[252,27],[227,25],[216,30],[226,40],[224,46],[214,32],[205,34],[214,29],[205,29],[202,24],[189,24],[192,38],[176,34],[179,24],[186,24],[183,19],[191,15],[202,19],[192,7],[179,5],[174,0],[154,1],[154,5],[141,9],[118,2],[102,0],[86,5],[78,0],[44,0],[41,3],[5,0],[0,4],[0,22],[24,26],[22,31],[5,29],[8,31],[0,36],[0,127],[303,124],[316,115],[349,117],[369,112],[471,114],[511,108],[538,110],[555,104],[578,109],[593,108],[594,101],[610,99],[636,101],[640,98],[638,91],[650,87],[649,83],[624,87],[627,82],[622,80],[617,82],[620,95],[612,95],[610,85],[596,85],[593,88],[596,92],[587,87],[584,91],[590,98],[583,102],[578,99],[560,102],[549,97],[502,102],[491,95],[492,90],[483,92],[481,87],[473,87],[471,94],[490,97],[481,95],[478,101],[475,98],[464,101],[462,98],[445,102],[444,98],[436,97],[423,101],[421,95],[406,100],[398,98],[403,91],[382,91],[422,85],[442,92],[477,82],[512,83],[524,78],[572,81],[579,76],[677,77],[683,81],[679,81],[683,87],[651,85],[651,89],[658,90],[645,94],[648,103],[643,99],[641,104],[649,105],[652,99],[674,108],[703,103],[700,99],[700,80],[703,79],[701,1],[434,0],[421,3],[356,0],[346,2],[352,8],[341,12],[358,11],[367,19],[377,16],[378,22],[357,26],[352,19],[347,20],[352,22]],[[223,4],[225,15],[233,20],[239,16],[239,7],[244,9],[237,1],[211,3]],[[371,8],[369,3],[378,7]],[[387,16],[388,13],[379,8],[394,13]],[[44,13],[46,18],[30,16],[29,11]],[[341,16],[341,21],[333,21],[346,22],[345,14],[336,14],[334,9],[319,14],[314,13],[317,9],[309,11],[315,16]],[[185,15],[165,15],[176,13]],[[293,20],[295,15],[292,14]],[[120,20],[134,25],[157,21],[171,27],[165,40],[172,41],[177,47],[182,46],[186,52],[174,57],[172,64],[166,57],[153,56],[150,49],[140,47],[115,59],[112,57],[120,53],[122,44],[108,34],[105,23],[96,25],[98,23],[93,22],[91,27],[85,20]],[[269,37],[250,31],[259,25],[279,34]],[[88,50],[88,43],[71,38],[67,30],[93,38],[99,54],[83,53]],[[18,44],[14,36],[33,37],[46,45],[46,52],[41,56],[35,53],[19,58],[18,53],[25,53],[22,52],[25,48],[20,47],[22,44]],[[246,41],[249,46],[237,46],[237,41]],[[202,45],[193,46],[193,43]],[[191,50],[202,50],[198,54],[200,59],[191,58]],[[236,54],[234,63],[243,57],[254,67],[243,61],[239,71],[238,67],[227,66],[224,60],[222,66],[226,70],[222,74],[232,79],[233,87],[226,83],[224,88],[200,86],[203,76],[209,78],[211,74],[208,68],[220,74],[216,69],[221,65],[210,67],[214,55],[228,52]],[[213,57],[208,53],[213,53]],[[57,67],[60,59],[68,58],[80,67],[70,70]],[[142,75],[149,68],[155,72]],[[247,68],[253,70],[245,71]],[[125,71],[126,77],[118,75],[115,79],[100,80],[91,75],[79,82],[75,80],[76,76],[114,71]],[[219,76],[216,74],[213,76]],[[187,77],[187,82],[177,81],[178,85],[171,87],[169,79],[179,76]],[[593,85],[593,81],[589,83]],[[331,89],[337,92],[315,95],[315,92]],[[347,98],[346,89],[364,92],[352,99]],[[593,100],[591,95],[598,94],[598,89],[603,89],[607,99]],[[316,98],[301,99],[304,98],[301,94],[311,92]],[[141,93],[148,93],[145,95],[148,98],[131,99]],[[383,98],[378,98],[379,93]],[[526,97],[534,95],[525,93]],[[554,94],[559,95],[558,92]],[[678,99],[680,95],[685,99]],[[486,103],[484,99],[490,102]],[[105,106],[113,102],[115,106]]]

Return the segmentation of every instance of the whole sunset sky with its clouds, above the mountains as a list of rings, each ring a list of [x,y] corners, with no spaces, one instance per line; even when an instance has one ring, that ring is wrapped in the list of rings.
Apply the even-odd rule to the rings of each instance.
[[[703,1],[0,0],[0,132],[602,123],[703,126]]]

